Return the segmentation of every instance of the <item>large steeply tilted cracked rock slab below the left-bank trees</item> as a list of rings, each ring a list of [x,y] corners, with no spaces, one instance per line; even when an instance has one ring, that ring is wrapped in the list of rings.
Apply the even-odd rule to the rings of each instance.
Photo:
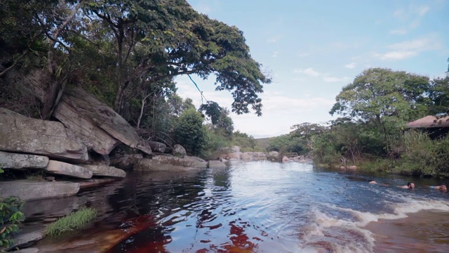
[[[133,126],[83,89],[66,89],[53,116],[102,155],[109,154],[120,143],[152,154]]]

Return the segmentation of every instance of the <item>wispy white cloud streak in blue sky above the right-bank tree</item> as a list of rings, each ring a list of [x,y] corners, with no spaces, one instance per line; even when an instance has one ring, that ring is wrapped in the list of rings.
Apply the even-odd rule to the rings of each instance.
[[[440,47],[438,39],[429,36],[391,44],[387,46],[390,49],[387,53],[375,53],[374,55],[382,60],[403,60],[417,56],[422,51],[436,50]]]

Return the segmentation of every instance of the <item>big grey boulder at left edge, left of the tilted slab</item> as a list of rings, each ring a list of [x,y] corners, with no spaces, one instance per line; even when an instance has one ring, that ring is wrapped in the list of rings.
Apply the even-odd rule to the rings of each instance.
[[[60,122],[0,114],[0,150],[85,162],[86,145]]]

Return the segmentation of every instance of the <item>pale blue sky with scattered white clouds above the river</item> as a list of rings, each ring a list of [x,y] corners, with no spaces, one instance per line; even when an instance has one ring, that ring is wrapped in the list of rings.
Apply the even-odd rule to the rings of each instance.
[[[326,124],[343,86],[370,67],[445,77],[449,58],[449,0],[187,0],[209,18],[243,31],[251,56],[270,73],[262,116],[230,117],[234,130],[255,138],[288,134],[304,122]],[[207,100],[231,109],[232,94],[215,78],[192,75]],[[177,93],[199,107],[187,76]]]

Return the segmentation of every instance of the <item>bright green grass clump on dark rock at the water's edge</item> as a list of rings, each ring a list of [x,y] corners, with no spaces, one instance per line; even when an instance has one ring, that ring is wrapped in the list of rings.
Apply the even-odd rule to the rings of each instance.
[[[87,223],[93,221],[97,216],[97,210],[93,208],[83,208],[79,209],[77,212],[72,212],[71,214],[58,219],[46,227],[46,235],[60,235],[67,231],[73,231],[76,228],[81,228]]]

